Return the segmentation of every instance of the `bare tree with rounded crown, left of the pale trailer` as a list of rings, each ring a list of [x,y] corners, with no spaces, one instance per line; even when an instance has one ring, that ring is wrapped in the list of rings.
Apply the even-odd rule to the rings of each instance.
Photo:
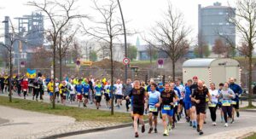
[[[187,54],[189,50],[189,41],[187,39],[191,30],[185,26],[183,14],[174,12],[172,4],[168,5],[168,10],[164,20],[158,21],[151,30],[151,36],[154,41],[160,44],[152,43],[146,39],[146,42],[154,48],[165,52],[172,61],[172,79],[175,80],[175,63],[177,60]]]

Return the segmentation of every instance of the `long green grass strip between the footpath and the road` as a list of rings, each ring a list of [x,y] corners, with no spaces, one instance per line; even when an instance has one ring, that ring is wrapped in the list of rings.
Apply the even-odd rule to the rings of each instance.
[[[0,96],[0,105],[6,107],[14,107],[39,113],[49,113],[55,115],[73,117],[77,121],[107,121],[107,122],[131,122],[130,113],[114,113],[112,116],[108,111],[96,109],[83,109],[79,107],[67,107],[56,105],[55,109],[51,108],[51,104],[45,102],[21,100],[13,98],[13,102],[9,102],[9,97]],[[3,113],[3,112],[2,112]]]

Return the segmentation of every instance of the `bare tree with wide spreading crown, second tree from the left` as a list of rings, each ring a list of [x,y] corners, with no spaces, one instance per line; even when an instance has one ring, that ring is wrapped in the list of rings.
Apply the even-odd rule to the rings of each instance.
[[[42,3],[38,3],[38,1],[28,2],[27,5],[35,7],[46,14],[50,22],[50,27],[46,30],[46,34],[48,34],[50,38],[51,48],[53,49],[53,78],[55,84],[55,70],[56,70],[56,49],[58,45],[58,39],[61,36],[61,31],[64,29],[65,26],[73,19],[87,17],[86,15],[76,14],[74,12],[75,7],[75,0],[44,0]],[[54,90],[55,92],[55,87]],[[54,100],[55,100],[55,93],[54,93]],[[52,101],[53,108],[55,108],[55,101]]]

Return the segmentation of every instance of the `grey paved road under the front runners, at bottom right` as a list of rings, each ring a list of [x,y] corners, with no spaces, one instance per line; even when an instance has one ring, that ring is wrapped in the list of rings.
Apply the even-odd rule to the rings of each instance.
[[[219,112],[218,112],[219,113]],[[236,122],[233,125],[230,125],[229,127],[224,127],[224,124],[220,123],[219,117],[218,117],[218,125],[217,126],[212,126],[210,117],[208,115],[207,118],[207,125],[204,125],[203,131],[204,135],[199,136],[196,130],[193,130],[189,125],[182,119],[180,122],[177,123],[177,128],[175,130],[172,130],[172,133],[170,134],[169,137],[172,138],[178,138],[178,139],[219,139],[219,138],[224,138],[224,139],[236,139],[237,136],[242,136],[243,133],[246,134],[246,132],[241,132],[239,131],[240,129],[247,129],[247,127],[250,126],[255,126],[256,123],[256,114],[255,113],[247,113],[247,112],[241,112],[241,117],[239,119],[236,119]],[[232,130],[237,130],[238,131],[232,131]],[[253,127],[252,127],[253,129]],[[256,131],[256,128],[254,128]],[[162,136],[163,133],[163,125],[162,122],[160,121],[160,125],[158,126],[159,133],[155,134],[148,134],[148,125],[146,125],[146,132],[145,133],[139,133],[140,138],[167,138],[166,136]],[[223,131],[231,131],[232,134],[228,133],[226,134],[219,134]],[[210,136],[214,133],[217,133],[217,136]],[[229,136],[229,134],[231,136]],[[236,137],[234,137],[236,135]],[[168,137],[168,138],[169,138]],[[118,129],[118,130],[107,130],[107,131],[102,131],[102,132],[96,132],[96,133],[90,133],[90,134],[84,134],[84,135],[79,135],[79,136],[68,136],[65,139],[84,139],[84,138],[93,138],[93,139],[120,139],[120,138],[134,138],[134,131],[132,127],[127,127],[123,129]]]

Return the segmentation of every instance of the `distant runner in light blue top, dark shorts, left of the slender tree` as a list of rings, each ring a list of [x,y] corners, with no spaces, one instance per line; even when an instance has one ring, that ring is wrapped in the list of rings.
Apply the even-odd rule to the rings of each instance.
[[[94,90],[95,90],[96,108],[99,109],[102,101],[102,91],[103,91],[103,87],[100,80],[96,80],[96,85],[94,87]]]

